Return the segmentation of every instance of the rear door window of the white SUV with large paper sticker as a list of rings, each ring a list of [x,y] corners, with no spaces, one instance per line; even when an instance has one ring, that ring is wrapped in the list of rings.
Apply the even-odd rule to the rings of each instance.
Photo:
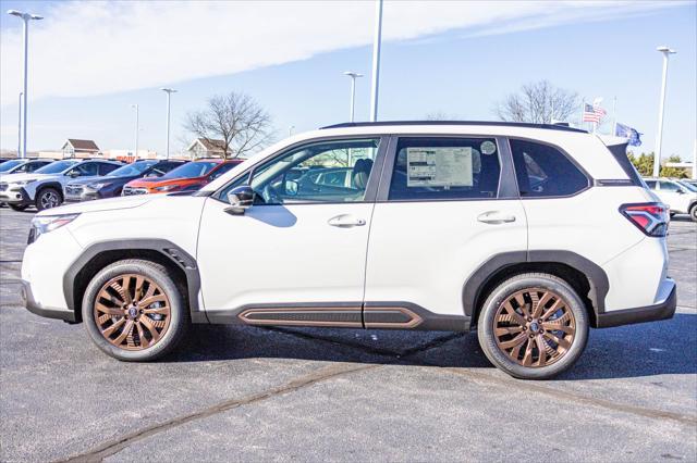
[[[493,138],[400,138],[389,199],[493,199],[500,174]]]

